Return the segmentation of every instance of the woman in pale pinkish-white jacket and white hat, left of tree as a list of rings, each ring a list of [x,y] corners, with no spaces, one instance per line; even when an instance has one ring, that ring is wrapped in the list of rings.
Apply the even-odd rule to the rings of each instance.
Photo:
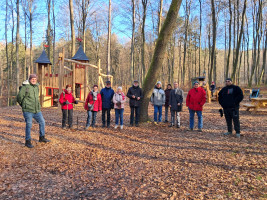
[[[123,112],[126,96],[122,92],[122,87],[118,87],[117,92],[113,96],[113,103],[115,108],[115,129],[119,126],[119,119],[121,129],[123,129]]]

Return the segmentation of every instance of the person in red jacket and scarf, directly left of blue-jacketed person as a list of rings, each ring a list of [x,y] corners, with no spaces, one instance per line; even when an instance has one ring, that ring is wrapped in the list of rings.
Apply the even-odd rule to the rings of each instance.
[[[91,91],[87,99],[85,101],[84,105],[85,110],[87,110],[87,122],[85,130],[87,130],[90,125],[91,127],[95,127],[95,121],[96,121],[96,114],[97,112],[102,110],[102,99],[101,94],[98,92],[98,86],[94,85],[93,91]],[[92,118],[92,123],[90,124]]]

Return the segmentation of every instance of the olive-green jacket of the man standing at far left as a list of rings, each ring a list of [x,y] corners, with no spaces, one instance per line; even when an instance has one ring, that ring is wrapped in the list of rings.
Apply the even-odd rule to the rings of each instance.
[[[23,112],[40,112],[39,84],[32,85],[28,80],[24,81],[17,96],[17,102],[22,107]]]

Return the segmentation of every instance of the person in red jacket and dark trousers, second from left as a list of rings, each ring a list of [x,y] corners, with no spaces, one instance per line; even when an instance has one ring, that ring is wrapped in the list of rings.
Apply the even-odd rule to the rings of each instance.
[[[66,129],[66,121],[68,116],[69,128],[72,128],[72,118],[73,118],[73,103],[78,104],[71,93],[71,86],[67,85],[66,89],[61,93],[59,102],[62,109],[62,128]]]

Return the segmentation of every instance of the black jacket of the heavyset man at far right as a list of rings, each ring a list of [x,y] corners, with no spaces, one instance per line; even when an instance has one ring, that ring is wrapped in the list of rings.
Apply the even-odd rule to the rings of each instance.
[[[219,92],[219,104],[223,108],[239,107],[244,95],[240,87],[236,85],[226,86]]]

